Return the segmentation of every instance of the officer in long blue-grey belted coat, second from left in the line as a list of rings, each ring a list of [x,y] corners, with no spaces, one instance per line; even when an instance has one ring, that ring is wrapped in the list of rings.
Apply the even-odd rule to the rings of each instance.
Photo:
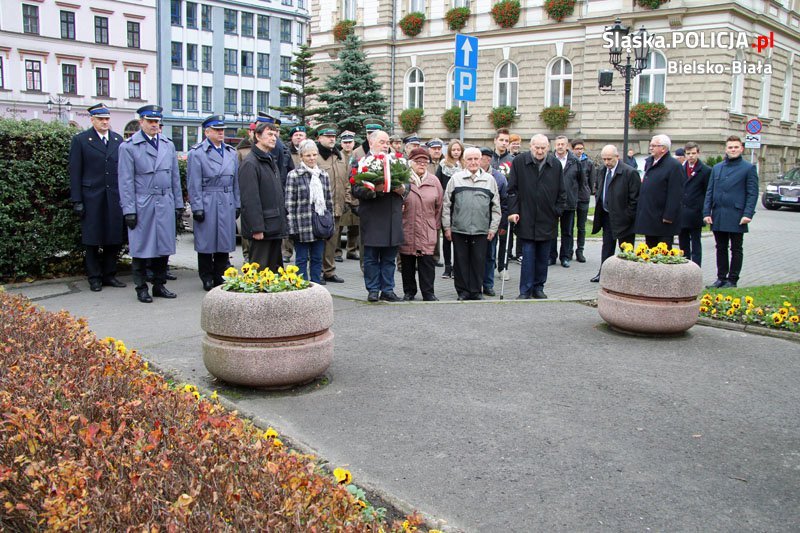
[[[146,259],[153,271],[153,296],[175,298],[164,283],[167,259],[175,253],[175,226],[183,213],[178,158],[172,141],[160,135],[161,106],[136,110],[141,130],[119,147],[119,197],[128,227],[133,282],[140,302],[150,303]]]

